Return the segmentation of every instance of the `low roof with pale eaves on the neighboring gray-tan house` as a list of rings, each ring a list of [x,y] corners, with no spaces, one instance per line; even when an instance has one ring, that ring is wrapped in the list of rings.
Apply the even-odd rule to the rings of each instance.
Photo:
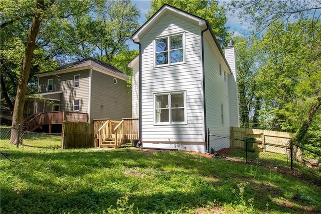
[[[37,77],[45,77],[45,76],[51,76],[51,75],[57,75],[57,74],[62,74],[62,73],[69,73],[73,71],[80,71],[80,70],[85,70],[85,69],[93,69],[95,71],[107,74],[109,76],[113,76],[122,80],[128,80],[129,77],[118,70],[117,68],[108,65],[104,62],[101,62],[97,59],[94,58],[86,58],[77,62],[73,62],[71,64],[67,64],[64,66],[61,66],[57,68],[55,71],[51,72],[45,72],[45,73],[40,73],[36,74],[35,76]]]

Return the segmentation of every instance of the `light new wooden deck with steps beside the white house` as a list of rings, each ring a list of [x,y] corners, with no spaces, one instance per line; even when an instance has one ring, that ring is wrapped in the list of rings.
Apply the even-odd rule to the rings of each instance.
[[[95,146],[118,148],[125,140],[138,140],[138,119],[94,120]],[[98,128],[99,127],[99,128]]]

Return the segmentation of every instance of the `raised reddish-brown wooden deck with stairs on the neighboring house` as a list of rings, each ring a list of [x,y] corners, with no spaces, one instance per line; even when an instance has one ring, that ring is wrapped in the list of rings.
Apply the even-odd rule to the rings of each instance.
[[[49,133],[51,133],[51,125],[63,124],[67,122],[88,122],[87,113],[79,112],[46,112],[40,114],[34,114],[27,118],[26,130],[33,132],[38,129],[41,125],[49,125]]]

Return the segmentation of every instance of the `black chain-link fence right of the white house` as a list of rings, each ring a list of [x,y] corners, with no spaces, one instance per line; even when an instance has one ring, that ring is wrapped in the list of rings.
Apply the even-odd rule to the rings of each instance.
[[[277,170],[299,170],[300,167],[321,170],[321,154],[291,141],[264,141],[253,137],[234,139],[209,134],[209,152],[214,157],[241,161]]]

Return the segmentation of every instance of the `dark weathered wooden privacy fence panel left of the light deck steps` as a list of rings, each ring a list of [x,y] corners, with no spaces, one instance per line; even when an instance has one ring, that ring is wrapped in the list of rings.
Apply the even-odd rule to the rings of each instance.
[[[62,149],[94,147],[94,125],[82,122],[65,122],[61,138]]]

